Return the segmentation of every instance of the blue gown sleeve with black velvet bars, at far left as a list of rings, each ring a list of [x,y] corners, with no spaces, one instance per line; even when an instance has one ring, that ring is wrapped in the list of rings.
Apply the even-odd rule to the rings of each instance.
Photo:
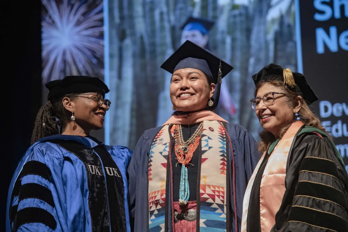
[[[49,156],[47,154],[50,154]],[[63,231],[55,181],[62,155],[47,143],[36,143],[22,157],[13,177],[7,206],[6,231]],[[65,207],[65,206],[63,206]]]

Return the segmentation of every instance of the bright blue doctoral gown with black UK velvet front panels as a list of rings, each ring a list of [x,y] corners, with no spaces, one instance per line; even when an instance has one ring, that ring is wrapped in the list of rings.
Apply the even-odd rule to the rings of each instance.
[[[91,137],[53,135],[35,142],[10,184],[6,231],[130,232],[131,154]]]

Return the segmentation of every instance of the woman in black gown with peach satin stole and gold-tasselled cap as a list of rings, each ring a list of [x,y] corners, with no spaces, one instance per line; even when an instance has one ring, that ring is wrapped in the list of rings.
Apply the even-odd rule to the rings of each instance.
[[[270,64],[253,80],[264,154],[245,192],[242,232],[348,231],[348,175],[308,107],[318,98],[306,78]]]

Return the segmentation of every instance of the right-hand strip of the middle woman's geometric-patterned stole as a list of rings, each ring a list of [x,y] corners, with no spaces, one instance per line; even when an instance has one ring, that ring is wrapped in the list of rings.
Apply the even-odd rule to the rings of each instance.
[[[200,231],[226,231],[226,217],[216,220],[216,216],[226,215],[229,208],[225,207],[224,200],[227,185],[226,133],[219,122],[204,121],[201,144]]]

